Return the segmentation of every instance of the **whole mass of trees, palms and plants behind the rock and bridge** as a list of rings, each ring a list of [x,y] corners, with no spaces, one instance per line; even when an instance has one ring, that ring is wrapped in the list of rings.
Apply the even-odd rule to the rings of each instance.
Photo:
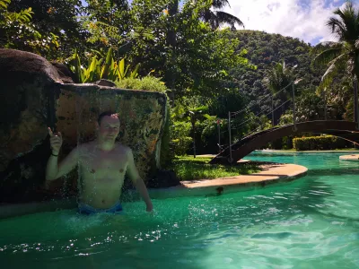
[[[296,121],[353,119],[359,16],[350,4],[328,24],[338,42],[318,48],[279,34],[234,30],[241,18],[221,11],[226,0],[86,4],[0,0],[0,46],[64,62],[76,82],[107,78],[120,88],[166,92],[171,109],[165,139],[172,153],[218,152],[229,142],[229,112],[232,142],[272,124],[293,123],[293,91]],[[311,65],[314,58],[320,65]],[[337,68],[328,66],[334,63],[329,58]],[[218,123],[200,116],[205,107],[203,114]],[[291,138],[284,141],[276,147],[291,144]]]

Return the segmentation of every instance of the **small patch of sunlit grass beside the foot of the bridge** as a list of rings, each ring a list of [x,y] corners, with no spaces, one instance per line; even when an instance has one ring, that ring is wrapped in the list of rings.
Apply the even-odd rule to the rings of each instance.
[[[208,164],[208,161],[211,161],[211,158],[180,156],[173,161],[172,169],[180,180],[233,177],[259,171],[258,164],[250,162],[230,166]]]

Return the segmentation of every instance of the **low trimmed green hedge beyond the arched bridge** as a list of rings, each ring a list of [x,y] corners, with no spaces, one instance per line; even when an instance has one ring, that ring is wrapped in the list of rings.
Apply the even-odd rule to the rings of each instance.
[[[293,139],[296,151],[336,150],[346,147],[346,140],[333,135],[310,136]]]

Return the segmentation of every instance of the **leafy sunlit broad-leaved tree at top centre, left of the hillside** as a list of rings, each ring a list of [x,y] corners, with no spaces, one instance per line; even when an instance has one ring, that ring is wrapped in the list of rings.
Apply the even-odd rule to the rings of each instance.
[[[176,98],[184,95],[217,95],[225,91],[230,68],[250,67],[239,40],[229,41],[230,30],[212,30],[200,19],[208,1],[186,0],[177,10],[176,0],[131,3],[133,29],[143,30],[130,45],[127,58],[141,63],[145,73],[155,70]]]

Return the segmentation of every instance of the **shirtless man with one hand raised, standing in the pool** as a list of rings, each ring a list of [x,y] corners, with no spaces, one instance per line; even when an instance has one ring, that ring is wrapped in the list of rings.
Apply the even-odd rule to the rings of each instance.
[[[52,152],[46,169],[47,183],[66,175],[78,165],[79,212],[116,213],[122,211],[118,200],[127,172],[144,199],[146,211],[151,212],[153,204],[144,181],[138,175],[131,149],[116,143],[119,133],[118,114],[109,111],[101,113],[97,131],[98,137],[95,141],[78,145],[58,164],[62,135],[60,132],[54,134],[48,128]]]

